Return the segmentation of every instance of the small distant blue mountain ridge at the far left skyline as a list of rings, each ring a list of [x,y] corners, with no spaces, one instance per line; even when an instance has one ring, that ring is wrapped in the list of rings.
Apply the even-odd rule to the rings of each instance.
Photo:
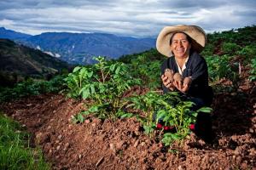
[[[0,27],[0,38],[20,40],[20,39],[26,39],[29,37],[32,37],[32,36],[28,34],[16,32],[16,31],[6,30],[4,27]]]

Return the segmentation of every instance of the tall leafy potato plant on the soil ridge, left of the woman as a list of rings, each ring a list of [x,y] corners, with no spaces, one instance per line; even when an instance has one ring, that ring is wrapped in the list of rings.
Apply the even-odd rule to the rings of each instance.
[[[92,99],[88,111],[74,118],[75,122],[84,122],[84,116],[94,114],[99,118],[116,118],[124,114],[126,104],[122,96],[131,86],[139,84],[132,78],[124,63],[111,63],[103,57],[96,58],[98,63],[91,67],[76,67],[68,77],[67,86],[71,97]]]

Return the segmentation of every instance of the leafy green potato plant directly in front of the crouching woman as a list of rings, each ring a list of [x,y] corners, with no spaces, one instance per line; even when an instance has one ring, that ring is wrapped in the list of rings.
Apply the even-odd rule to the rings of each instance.
[[[175,140],[182,141],[189,134],[189,125],[195,123],[198,112],[209,113],[211,108],[203,107],[198,111],[192,111],[194,103],[183,101],[177,92],[168,94],[156,94],[149,92],[142,96],[130,99],[128,107],[143,111],[144,115],[134,115],[143,124],[145,133],[153,133],[157,122],[162,120],[165,126],[175,127],[175,133],[165,133],[162,142],[166,145]],[[131,116],[131,115],[129,115]]]

